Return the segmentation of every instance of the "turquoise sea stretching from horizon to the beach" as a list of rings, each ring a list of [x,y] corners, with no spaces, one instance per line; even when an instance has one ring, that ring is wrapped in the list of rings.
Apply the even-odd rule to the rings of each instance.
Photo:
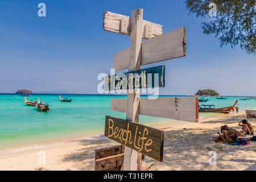
[[[0,150],[7,147],[27,146],[71,137],[104,134],[106,115],[126,118],[125,113],[110,111],[111,98],[125,98],[126,96],[88,94],[62,96],[72,98],[72,102],[60,102],[57,94],[32,94],[31,97],[27,97],[31,101],[40,98],[40,101],[47,102],[51,109],[45,113],[36,109],[35,106],[27,106],[24,103],[24,97],[18,94],[0,94]],[[240,100],[245,97],[228,97],[226,100],[217,100],[215,97],[207,98],[208,102],[200,102],[199,104],[214,104],[216,107],[225,107],[233,105],[238,100],[240,111],[256,108],[255,99]],[[199,117],[207,115],[213,114],[200,113]],[[172,122],[172,120],[140,116],[140,123],[146,125],[167,122]]]

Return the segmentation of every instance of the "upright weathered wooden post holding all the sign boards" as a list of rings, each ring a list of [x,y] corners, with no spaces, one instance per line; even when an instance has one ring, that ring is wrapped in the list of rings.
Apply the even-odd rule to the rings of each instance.
[[[141,42],[142,42],[143,9],[135,9],[131,13],[131,50],[129,59],[129,71],[141,69]],[[140,90],[127,90],[126,120],[139,123],[139,96]],[[141,170],[141,155],[131,148],[125,147],[123,162],[125,171]]]

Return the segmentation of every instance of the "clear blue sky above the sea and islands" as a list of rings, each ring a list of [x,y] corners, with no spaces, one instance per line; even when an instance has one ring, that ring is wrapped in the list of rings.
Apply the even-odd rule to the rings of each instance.
[[[38,16],[46,3],[47,16]],[[0,93],[18,89],[96,93],[99,73],[110,73],[114,53],[130,47],[130,37],[103,30],[105,11],[163,25],[163,32],[186,27],[187,55],[146,67],[166,65],[160,94],[195,94],[214,89],[225,96],[255,96],[256,61],[240,47],[220,48],[205,35],[206,19],[188,14],[183,1],[18,1],[0,0]],[[127,70],[125,70],[126,72]]]

